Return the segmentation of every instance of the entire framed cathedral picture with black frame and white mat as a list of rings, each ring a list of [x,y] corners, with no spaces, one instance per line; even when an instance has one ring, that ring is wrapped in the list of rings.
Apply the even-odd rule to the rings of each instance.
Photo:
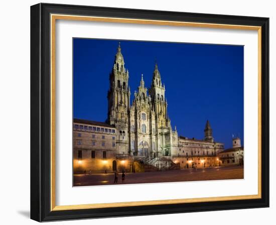
[[[31,7],[31,218],[269,206],[268,18]]]

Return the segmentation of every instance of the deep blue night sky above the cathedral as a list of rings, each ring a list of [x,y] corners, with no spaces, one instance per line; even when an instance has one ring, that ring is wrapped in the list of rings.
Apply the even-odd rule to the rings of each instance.
[[[208,119],[213,137],[243,145],[243,46],[120,41],[129,71],[131,102],[141,73],[150,87],[155,61],[165,83],[168,115],[178,134],[204,138]],[[74,118],[107,118],[107,90],[118,40],[73,39]]]

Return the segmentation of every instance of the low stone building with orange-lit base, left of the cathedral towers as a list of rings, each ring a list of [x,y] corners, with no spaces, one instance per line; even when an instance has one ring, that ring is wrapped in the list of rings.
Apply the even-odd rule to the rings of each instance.
[[[116,135],[116,128],[109,124],[74,119],[74,173],[103,173],[116,169],[116,165],[113,166],[116,164]]]

